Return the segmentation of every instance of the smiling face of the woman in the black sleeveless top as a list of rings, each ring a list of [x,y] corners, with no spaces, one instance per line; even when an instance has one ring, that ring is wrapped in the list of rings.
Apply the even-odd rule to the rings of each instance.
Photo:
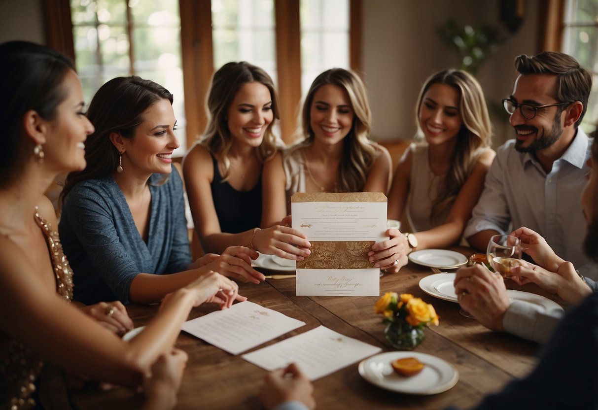
[[[227,124],[232,143],[260,146],[273,119],[268,87],[261,82],[246,82],[228,107]]]

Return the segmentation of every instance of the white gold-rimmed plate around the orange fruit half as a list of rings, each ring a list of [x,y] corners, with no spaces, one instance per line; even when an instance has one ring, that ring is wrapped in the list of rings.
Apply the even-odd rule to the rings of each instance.
[[[390,362],[415,357],[426,366],[414,376],[405,377],[392,369]],[[373,385],[406,394],[437,394],[457,384],[459,372],[446,360],[415,351],[389,351],[376,354],[359,363],[359,374]]]

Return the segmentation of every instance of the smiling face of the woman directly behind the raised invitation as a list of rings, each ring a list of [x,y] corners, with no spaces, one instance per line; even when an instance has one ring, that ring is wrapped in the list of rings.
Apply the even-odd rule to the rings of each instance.
[[[324,84],[313,94],[309,124],[315,140],[335,145],[353,126],[353,106],[347,92],[338,85]]]

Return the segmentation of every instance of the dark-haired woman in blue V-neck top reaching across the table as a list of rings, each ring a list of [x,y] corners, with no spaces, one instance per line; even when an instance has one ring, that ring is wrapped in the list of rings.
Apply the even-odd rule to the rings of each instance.
[[[157,302],[210,270],[265,279],[245,247],[191,263],[182,181],[172,172],[179,143],[169,91],[114,78],[97,91],[88,118],[96,131],[86,141],[87,167],[66,179],[59,226],[75,300]]]

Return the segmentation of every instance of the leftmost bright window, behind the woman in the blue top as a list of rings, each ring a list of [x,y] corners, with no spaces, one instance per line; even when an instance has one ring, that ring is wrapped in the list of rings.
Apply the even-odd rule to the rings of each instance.
[[[75,64],[87,102],[109,79],[139,75],[174,94],[177,137],[187,151],[177,0],[71,0]]]

